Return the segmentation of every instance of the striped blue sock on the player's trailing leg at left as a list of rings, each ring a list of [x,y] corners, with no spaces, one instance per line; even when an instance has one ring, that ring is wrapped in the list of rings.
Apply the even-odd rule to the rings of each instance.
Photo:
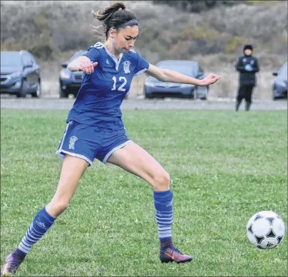
[[[36,244],[36,242],[41,239],[41,237],[46,233],[46,231],[52,226],[55,218],[49,215],[43,207],[38,214],[34,217],[34,220],[26,231],[18,249],[27,254],[31,247]]]

